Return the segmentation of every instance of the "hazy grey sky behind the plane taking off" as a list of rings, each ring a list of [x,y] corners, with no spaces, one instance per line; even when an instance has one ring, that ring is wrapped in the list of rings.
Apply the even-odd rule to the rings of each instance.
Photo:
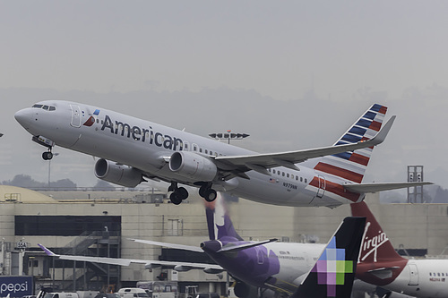
[[[60,98],[202,135],[232,126],[263,152],[332,144],[380,102],[398,118],[371,179],[404,180],[422,164],[444,184],[447,11],[412,0],[1,1],[0,181],[46,181],[43,148],[13,113]],[[52,180],[96,183],[92,158],[61,152]]]

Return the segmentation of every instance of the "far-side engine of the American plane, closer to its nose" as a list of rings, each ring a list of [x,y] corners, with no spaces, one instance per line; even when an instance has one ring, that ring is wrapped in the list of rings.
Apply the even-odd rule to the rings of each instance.
[[[95,164],[95,175],[99,179],[125,187],[135,187],[142,183],[142,173],[139,170],[132,166],[117,165],[104,158]]]

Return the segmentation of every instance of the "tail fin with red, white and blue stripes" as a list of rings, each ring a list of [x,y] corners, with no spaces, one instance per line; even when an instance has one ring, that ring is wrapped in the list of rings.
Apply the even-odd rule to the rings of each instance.
[[[353,123],[347,132],[334,144],[350,144],[372,139],[380,131],[387,107],[375,104]],[[361,183],[372,155],[373,147],[343,152],[323,157],[314,169],[326,174],[339,176],[353,183]]]

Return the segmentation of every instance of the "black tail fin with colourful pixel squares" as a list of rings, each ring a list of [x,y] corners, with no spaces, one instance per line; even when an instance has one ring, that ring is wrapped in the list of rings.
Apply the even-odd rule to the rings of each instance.
[[[346,217],[292,298],[350,297],[365,217]]]

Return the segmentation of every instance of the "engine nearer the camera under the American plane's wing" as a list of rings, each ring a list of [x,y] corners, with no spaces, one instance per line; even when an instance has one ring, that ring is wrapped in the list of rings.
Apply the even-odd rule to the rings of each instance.
[[[169,169],[194,182],[210,182],[218,174],[218,168],[210,158],[188,151],[173,153],[169,159]]]

